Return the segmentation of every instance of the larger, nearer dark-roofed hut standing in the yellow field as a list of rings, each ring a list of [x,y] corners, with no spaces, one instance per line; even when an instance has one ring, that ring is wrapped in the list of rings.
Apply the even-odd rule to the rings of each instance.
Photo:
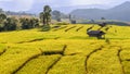
[[[102,30],[89,30],[87,32],[87,34],[89,35],[89,37],[98,37],[98,38],[102,38],[102,36],[105,35],[105,33]]]

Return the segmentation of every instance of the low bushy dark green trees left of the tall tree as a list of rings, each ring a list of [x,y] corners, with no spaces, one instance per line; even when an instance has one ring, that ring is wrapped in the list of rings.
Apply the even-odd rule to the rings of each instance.
[[[11,17],[4,13],[0,14],[0,32],[29,29],[39,26],[39,20],[35,17]]]

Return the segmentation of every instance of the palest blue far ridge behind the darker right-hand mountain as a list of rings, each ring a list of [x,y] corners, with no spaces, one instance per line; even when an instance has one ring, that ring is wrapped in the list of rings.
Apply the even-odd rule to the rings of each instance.
[[[38,2],[38,3],[35,3],[32,5],[32,8],[27,11],[29,13],[40,13],[42,11],[42,8],[43,8],[43,3],[42,2]],[[109,9],[112,5],[104,5],[104,4],[89,4],[89,5],[68,5],[68,7],[57,7],[57,8],[54,8],[54,7],[51,7],[52,10],[58,10],[63,13],[70,13],[73,10],[76,10],[76,9],[92,9],[92,8],[99,8],[99,9]]]

